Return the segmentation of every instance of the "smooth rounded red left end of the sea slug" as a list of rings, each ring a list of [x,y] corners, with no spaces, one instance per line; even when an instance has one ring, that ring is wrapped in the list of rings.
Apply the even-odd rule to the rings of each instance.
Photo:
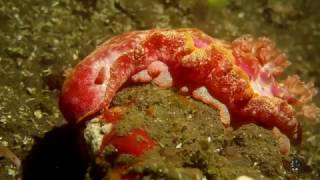
[[[133,50],[144,33],[125,33],[107,40],[68,73],[59,106],[69,122],[78,123],[105,107],[108,103],[107,89],[110,91],[119,83],[111,75],[114,73],[126,80],[126,73],[132,71],[130,60]]]

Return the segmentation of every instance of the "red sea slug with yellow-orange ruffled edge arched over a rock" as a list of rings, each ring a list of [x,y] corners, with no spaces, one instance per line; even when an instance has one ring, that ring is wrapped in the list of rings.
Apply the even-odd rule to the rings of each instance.
[[[297,115],[314,118],[319,110],[311,102],[316,94],[312,83],[303,83],[297,75],[277,81],[288,65],[285,54],[267,38],[244,36],[230,43],[198,29],[129,32],[104,42],[69,73],[60,109],[70,123],[85,122],[108,114],[121,87],[152,82],[217,109],[226,127],[252,122],[299,142]],[[155,144],[142,129],[123,138],[135,135],[147,139],[147,149]],[[143,153],[136,149],[144,147],[141,144],[127,147],[121,138],[112,138],[112,132],[108,136],[124,151]]]

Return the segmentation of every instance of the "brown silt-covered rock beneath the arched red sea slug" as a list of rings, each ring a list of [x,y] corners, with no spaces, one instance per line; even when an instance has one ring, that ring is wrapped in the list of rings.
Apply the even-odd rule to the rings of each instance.
[[[98,168],[125,164],[141,179],[257,179],[284,176],[282,159],[270,130],[254,124],[226,129],[215,109],[174,90],[153,85],[123,89],[112,106],[127,106],[115,125],[121,134],[144,128],[157,147],[123,160],[107,146]],[[104,163],[101,163],[105,161]],[[139,162],[139,163],[137,163]],[[102,165],[101,165],[102,164]],[[107,168],[106,168],[107,167]]]

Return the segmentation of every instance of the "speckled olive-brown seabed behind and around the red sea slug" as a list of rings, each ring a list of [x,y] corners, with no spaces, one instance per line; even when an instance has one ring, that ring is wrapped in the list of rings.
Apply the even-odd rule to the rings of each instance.
[[[287,53],[288,73],[319,88],[319,9],[314,0],[0,0],[0,145],[23,161],[19,170],[0,156],[0,179],[85,178],[88,162],[80,157],[75,130],[65,125],[57,102],[64,70],[106,39],[180,27],[225,40],[266,36]],[[320,105],[319,96],[315,102]],[[284,173],[267,178],[320,178],[320,119],[300,122],[302,144],[279,160]],[[272,158],[261,157],[267,167]],[[243,168],[237,165],[228,168]]]

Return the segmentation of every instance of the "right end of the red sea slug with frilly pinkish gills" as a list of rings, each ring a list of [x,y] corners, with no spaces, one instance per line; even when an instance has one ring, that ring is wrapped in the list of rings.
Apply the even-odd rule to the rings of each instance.
[[[320,112],[311,103],[317,93],[314,84],[305,84],[298,75],[277,81],[276,77],[290,63],[287,56],[265,37],[254,39],[244,36],[234,40],[231,45],[236,64],[248,74],[255,92],[240,114],[245,115],[247,120],[253,118],[252,121],[265,127],[276,126],[294,142],[300,142],[302,131],[296,115],[302,113],[305,117],[315,118]],[[257,114],[261,117],[257,118]]]

